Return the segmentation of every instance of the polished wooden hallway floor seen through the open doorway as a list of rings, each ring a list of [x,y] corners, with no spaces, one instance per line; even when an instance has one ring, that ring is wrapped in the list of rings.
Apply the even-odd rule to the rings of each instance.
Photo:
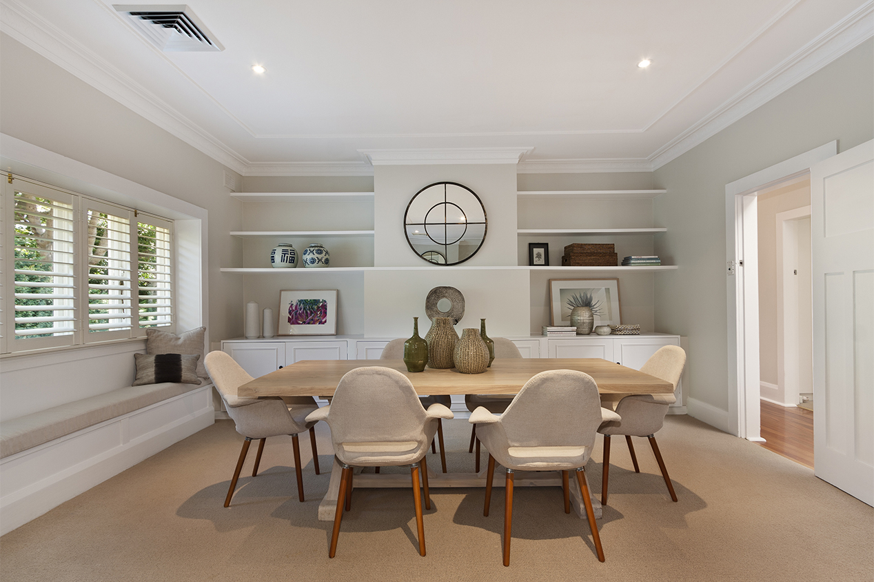
[[[759,443],[802,465],[814,467],[814,413],[798,406],[785,407],[761,401]]]

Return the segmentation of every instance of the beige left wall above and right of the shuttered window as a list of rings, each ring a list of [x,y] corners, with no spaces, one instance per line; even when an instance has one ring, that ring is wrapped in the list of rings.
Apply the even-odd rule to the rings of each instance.
[[[0,59],[0,132],[209,211],[210,340],[239,335],[242,281],[218,272],[241,253],[225,167],[4,34]]]

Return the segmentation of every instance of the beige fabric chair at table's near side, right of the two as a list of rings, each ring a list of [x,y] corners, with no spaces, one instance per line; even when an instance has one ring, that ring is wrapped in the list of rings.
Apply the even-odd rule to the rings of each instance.
[[[601,408],[598,386],[591,376],[572,370],[540,372],[525,383],[500,416],[482,406],[470,415],[469,422],[480,426],[477,434],[489,451],[483,516],[489,515],[495,461],[507,470],[503,565],[510,565],[514,471],[561,471],[565,513],[570,513],[568,472],[573,469],[598,559],[604,561],[585,467],[592,454],[595,432],[607,419],[619,420],[619,416]]]

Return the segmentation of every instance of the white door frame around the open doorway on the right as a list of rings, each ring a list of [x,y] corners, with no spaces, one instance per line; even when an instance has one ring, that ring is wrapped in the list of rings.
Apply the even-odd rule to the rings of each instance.
[[[759,274],[756,195],[802,178],[810,167],[837,155],[837,141],[725,184],[726,311],[728,327],[728,432],[760,436]]]

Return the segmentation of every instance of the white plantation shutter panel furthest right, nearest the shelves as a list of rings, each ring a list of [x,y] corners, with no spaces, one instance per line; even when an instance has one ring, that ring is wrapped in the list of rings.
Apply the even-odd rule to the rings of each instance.
[[[139,327],[173,324],[173,231],[162,218],[140,215],[137,230]]]

